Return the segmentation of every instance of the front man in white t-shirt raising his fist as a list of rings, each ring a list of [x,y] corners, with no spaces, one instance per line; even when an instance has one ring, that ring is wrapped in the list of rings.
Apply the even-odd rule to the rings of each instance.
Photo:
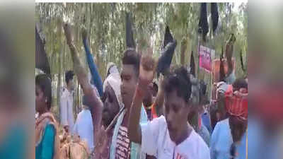
[[[144,56],[140,68],[139,83],[129,115],[129,139],[141,144],[141,151],[158,159],[210,159],[207,144],[187,123],[192,107],[187,70],[180,67],[163,81],[165,116],[139,125],[139,112],[146,86],[154,78],[154,61]]]

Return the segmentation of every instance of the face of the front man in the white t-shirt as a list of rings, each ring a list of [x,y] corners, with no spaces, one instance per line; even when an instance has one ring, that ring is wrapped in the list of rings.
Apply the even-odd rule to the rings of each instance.
[[[177,95],[176,90],[166,93],[164,98],[165,118],[172,141],[178,141],[186,129],[189,105]]]

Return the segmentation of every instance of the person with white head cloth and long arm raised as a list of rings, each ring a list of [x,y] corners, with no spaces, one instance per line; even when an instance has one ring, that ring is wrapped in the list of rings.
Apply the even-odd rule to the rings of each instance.
[[[64,34],[71,52],[74,73],[76,73],[76,76],[78,77],[79,84],[81,85],[83,94],[86,96],[85,98],[91,111],[95,145],[93,158],[109,158],[110,141],[112,139],[114,125],[111,123],[113,123],[112,121],[118,112],[122,110],[122,97],[120,93],[121,80],[119,73],[112,74],[105,79],[103,101],[101,101],[98,91],[91,86],[86,70],[83,68],[79,59],[78,52],[74,45],[73,35],[71,33],[71,26],[69,24],[64,25]],[[86,37],[86,34],[83,35],[83,37]],[[85,49],[87,48],[86,52],[88,52],[89,49],[86,42],[84,42],[84,45]],[[95,80],[99,78],[93,79]]]

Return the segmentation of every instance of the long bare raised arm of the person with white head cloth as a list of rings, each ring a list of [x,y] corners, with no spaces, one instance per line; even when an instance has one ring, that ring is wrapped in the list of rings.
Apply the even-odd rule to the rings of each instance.
[[[78,77],[78,81],[81,84],[84,95],[86,95],[88,102],[91,105],[91,114],[93,117],[93,128],[96,131],[96,127],[100,126],[102,118],[103,103],[101,102],[98,94],[91,87],[91,83],[88,81],[88,76],[86,70],[83,69],[83,65],[78,57],[78,52],[73,42],[73,37],[71,34],[71,26],[69,24],[64,25],[64,33],[66,36],[67,44],[71,52],[71,59],[74,64],[74,73]]]

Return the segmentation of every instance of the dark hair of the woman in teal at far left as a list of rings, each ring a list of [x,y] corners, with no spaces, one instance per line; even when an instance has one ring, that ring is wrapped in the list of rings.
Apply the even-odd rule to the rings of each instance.
[[[39,86],[47,98],[47,109],[50,110],[52,102],[51,81],[47,74],[35,76],[35,85]]]

